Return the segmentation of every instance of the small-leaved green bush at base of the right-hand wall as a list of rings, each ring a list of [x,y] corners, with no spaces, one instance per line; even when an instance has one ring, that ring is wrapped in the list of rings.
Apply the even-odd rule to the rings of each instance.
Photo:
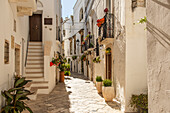
[[[148,95],[132,95],[130,105],[133,109],[137,108],[140,113],[148,113]]]

